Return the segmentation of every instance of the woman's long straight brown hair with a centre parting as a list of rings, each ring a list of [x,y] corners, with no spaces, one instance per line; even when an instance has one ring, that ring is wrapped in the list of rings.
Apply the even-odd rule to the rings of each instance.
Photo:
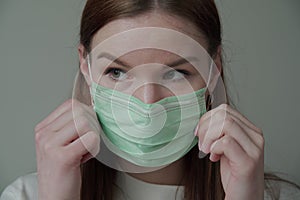
[[[208,53],[216,55],[222,43],[222,31],[218,10],[213,0],[88,0],[82,13],[80,43],[86,52],[91,50],[94,34],[107,23],[124,17],[133,17],[159,9],[192,22],[206,37]],[[223,70],[221,72],[224,80]],[[83,75],[77,77],[77,97],[87,100],[88,88]],[[85,100],[84,100],[85,99]],[[230,102],[229,102],[230,103]],[[221,183],[220,163],[212,163],[208,157],[198,158],[197,145],[185,155],[185,199],[221,200],[225,194]],[[82,200],[111,200],[116,171],[96,159],[81,166]]]

